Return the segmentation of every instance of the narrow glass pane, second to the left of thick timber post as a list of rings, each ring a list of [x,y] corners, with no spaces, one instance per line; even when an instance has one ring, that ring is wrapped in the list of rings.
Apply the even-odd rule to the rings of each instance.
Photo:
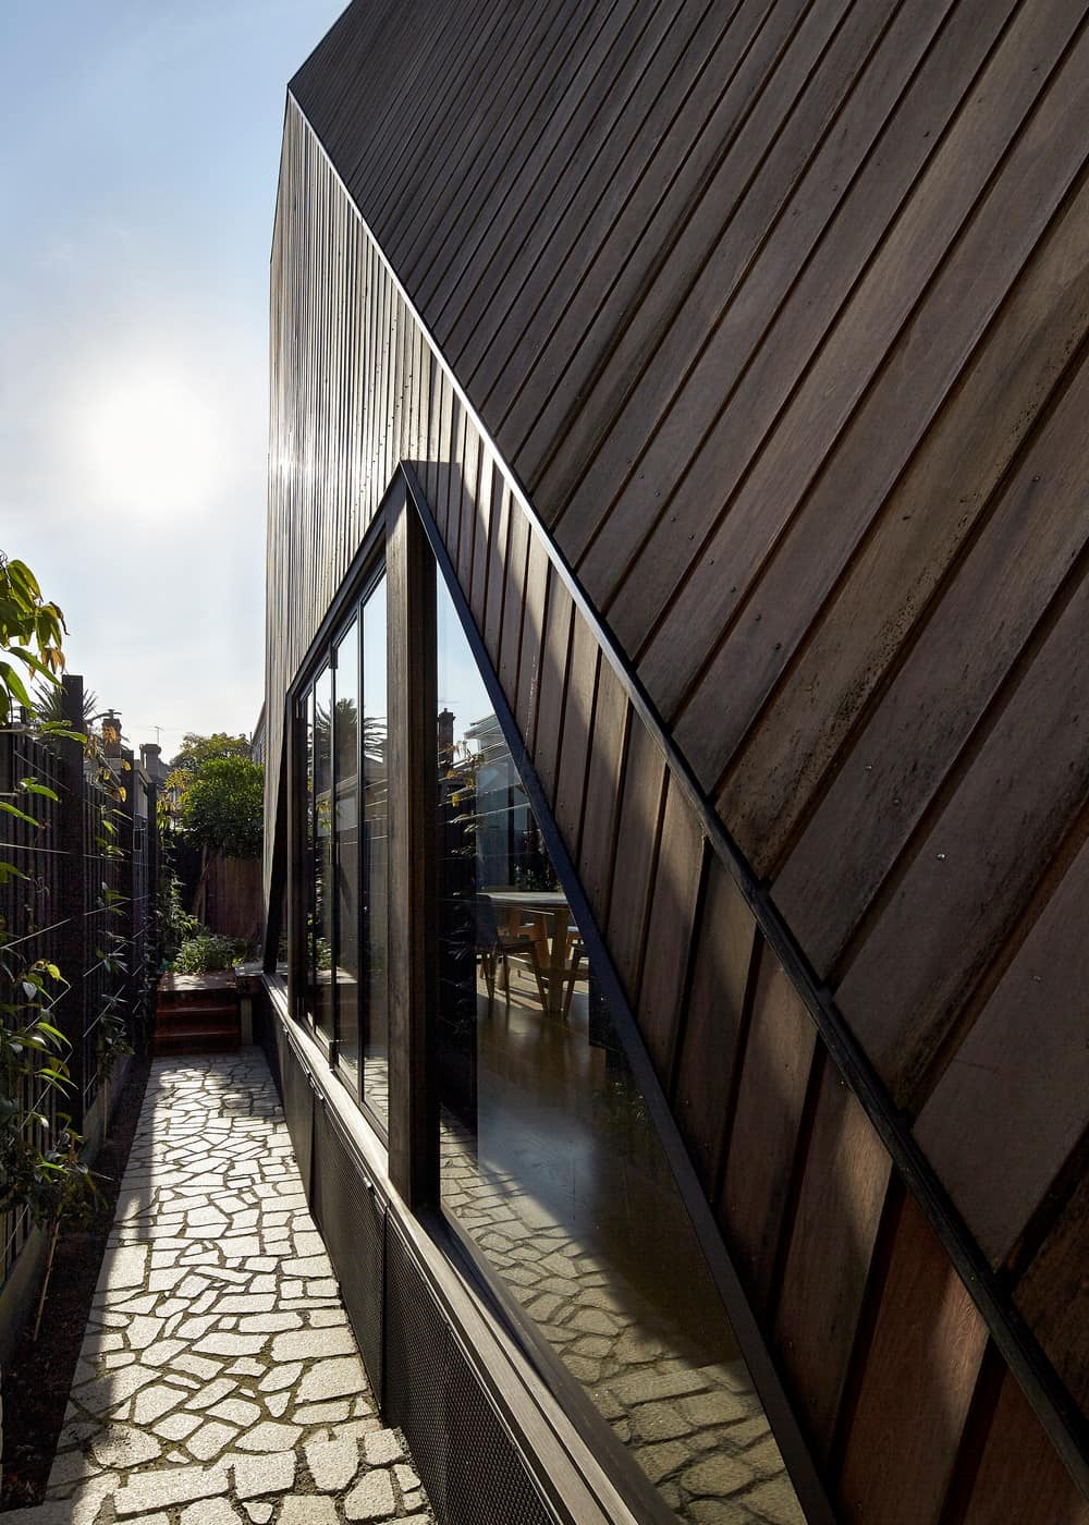
[[[358,677],[360,627],[354,619],[337,642],[337,703],[332,752],[337,781],[337,1064],[352,1093],[360,1066],[360,808]]]

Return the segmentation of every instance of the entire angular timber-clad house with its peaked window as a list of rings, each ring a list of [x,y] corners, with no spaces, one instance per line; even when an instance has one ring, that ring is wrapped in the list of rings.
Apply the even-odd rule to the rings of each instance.
[[[291,81],[265,1042],[442,1520],[1087,1517],[1087,50],[355,0]]]

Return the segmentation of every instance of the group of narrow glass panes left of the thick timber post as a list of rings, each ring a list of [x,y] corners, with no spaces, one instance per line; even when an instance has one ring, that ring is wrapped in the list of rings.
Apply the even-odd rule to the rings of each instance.
[[[340,622],[299,705],[302,1010],[381,1130],[389,1113],[386,578]]]

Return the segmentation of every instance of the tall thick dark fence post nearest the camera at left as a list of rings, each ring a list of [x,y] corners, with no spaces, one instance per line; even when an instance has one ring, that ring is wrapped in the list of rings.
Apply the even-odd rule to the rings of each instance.
[[[69,730],[84,729],[84,680],[66,674],[61,689],[61,715]],[[72,1092],[66,1109],[72,1125],[84,1124],[84,1035],[87,1032],[87,856],[84,843],[84,747],[81,741],[58,738],[61,759],[61,801],[56,816],[58,845],[64,852],[67,872],[61,874],[56,920],[56,964],[69,982],[69,991],[58,1003],[58,1026],[72,1043],[67,1063],[72,1071]]]

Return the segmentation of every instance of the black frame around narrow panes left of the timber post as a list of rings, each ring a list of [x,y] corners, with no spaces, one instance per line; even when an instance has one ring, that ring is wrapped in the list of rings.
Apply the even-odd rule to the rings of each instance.
[[[384,508],[375,515],[371,523],[360,555],[355,558],[352,569],[349,570],[342,590],[331,605],[322,628],[307,653],[307,660],[299,669],[296,682],[291,685],[288,695],[288,715],[290,715],[290,747],[296,759],[293,776],[296,788],[288,801],[290,810],[294,816],[296,831],[294,831],[294,854],[291,862],[290,874],[290,895],[296,900],[294,907],[288,909],[288,968],[291,971],[290,981],[290,1010],[296,1022],[304,1026],[311,1039],[317,1043],[322,1054],[325,1055],[329,1071],[336,1075],[339,1084],[351,1095],[355,1106],[368,1119],[369,1125],[378,1135],[383,1144],[389,1144],[389,1130],[386,1122],[377,1115],[374,1107],[369,1106],[365,1087],[363,1075],[366,1058],[361,1052],[363,1049],[363,1032],[360,1031],[360,1060],[358,1074],[355,1080],[349,1080],[346,1069],[339,1063],[340,1057],[340,991],[336,979],[336,959],[337,946],[340,939],[340,903],[339,897],[332,895],[332,979],[329,984],[329,1000],[331,1000],[331,1016],[332,1016],[332,1034],[326,1035],[317,1022],[317,1013],[310,1003],[310,988],[305,978],[299,978],[302,968],[308,968],[308,962],[304,965],[304,959],[308,959],[308,938],[304,946],[299,946],[302,917],[299,897],[304,884],[307,886],[302,895],[304,904],[308,906],[311,900],[310,894],[310,877],[313,874],[313,863],[305,862],[305,854],[302,851],[302,843],[305,834],[300,830],[304,811],[307,808],[305,790],[299,785],[304,779],[304,767],[300,762],[305,756],[305,729],[307,729],[307,706],[314,694],[314,685],[322,673],[328,668],[332,679],[331,688],[331,720],[336,712],[337,703],[337,648],[343,637],[351,630],[352,621],[357,624],[355,639],[357,639],[357,686],[361,689],[363,683],[363,605],[369,599],[371,593],[378,587],[383,576],[386,575],[386,514]],[[361,721],[361,715],[360,715]],[[336,756],[336,738],[334,724],[329,727],[329,791],[336,807],[337,798],[337,756]],[[363,726],[357,724],[355,735],[355,755],[357,755],[357,788],[361,790],[363,781]],[[361,802],[361,796],[360,796]],[[361,822],[361,817],[360,817]],[[332,811],[332,830],[336,833],[336,808]],[[336,834],[332,840],[331,852],[336,860]],[[357,842],[357,884],[363,883],[363,831],[360,827],[358,842]]]

